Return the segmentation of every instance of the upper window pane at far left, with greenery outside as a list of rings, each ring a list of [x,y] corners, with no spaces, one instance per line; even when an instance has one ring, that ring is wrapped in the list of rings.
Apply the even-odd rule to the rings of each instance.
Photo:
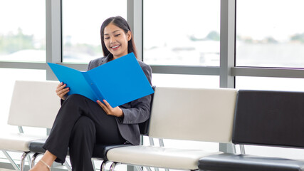
[[[46,61],[46,1],[1,1],[0,21],[0,61]]]

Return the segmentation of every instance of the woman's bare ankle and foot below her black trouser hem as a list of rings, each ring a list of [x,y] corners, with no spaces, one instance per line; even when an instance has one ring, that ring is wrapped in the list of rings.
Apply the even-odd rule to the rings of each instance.
[[[47,150],[41,160],[39,160],[30,171],[49,171],[51,169],[48,166],[51,167],[55,159],[56,156]]]

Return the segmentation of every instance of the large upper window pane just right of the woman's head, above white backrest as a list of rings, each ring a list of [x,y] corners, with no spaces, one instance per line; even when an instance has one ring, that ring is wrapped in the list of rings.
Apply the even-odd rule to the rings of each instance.
[[[144,1],[143,23],[145,63],[219,66],[219,0]]]

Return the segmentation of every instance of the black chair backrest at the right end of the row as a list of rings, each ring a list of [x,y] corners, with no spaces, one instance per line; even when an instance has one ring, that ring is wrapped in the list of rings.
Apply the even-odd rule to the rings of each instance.
[[[239,90],[233,142],[304,147],[304,93]]]

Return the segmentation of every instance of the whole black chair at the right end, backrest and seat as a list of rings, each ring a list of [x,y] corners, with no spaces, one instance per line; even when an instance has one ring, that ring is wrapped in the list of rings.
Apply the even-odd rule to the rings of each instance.
[[[304,93],[239,90],[234,122],[235,144],[303,148]],[[242,153],[202,157],[199,170],[304,170],[303,160]]]

